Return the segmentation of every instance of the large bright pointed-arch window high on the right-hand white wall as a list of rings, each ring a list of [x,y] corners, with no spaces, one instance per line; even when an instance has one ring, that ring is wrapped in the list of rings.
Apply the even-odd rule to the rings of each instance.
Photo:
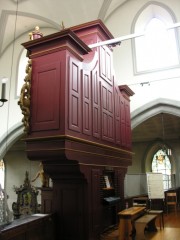
[[[156,5],[149,5],[139,15],[134,32],[144,35],[134,39],[135,73],[179,66],[177,29],[168,29],[173,23],[170,13]]]

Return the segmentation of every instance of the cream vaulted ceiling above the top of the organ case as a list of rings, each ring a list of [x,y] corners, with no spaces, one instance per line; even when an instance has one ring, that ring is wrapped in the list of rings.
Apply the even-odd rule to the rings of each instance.
[[[105,20],[116,8],[129,0],[1,0],[0,56],[14,38],[35,26],[60,29],[84,22]]]

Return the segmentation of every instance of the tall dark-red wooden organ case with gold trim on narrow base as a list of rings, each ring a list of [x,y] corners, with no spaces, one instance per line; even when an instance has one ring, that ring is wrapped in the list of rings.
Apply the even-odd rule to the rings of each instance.
[[[112,49],[88,47],[112,38],[96,20],[22,44],[32,60],[26,151],[53,181],[57,239],[99,239],[122,208],[133,92],[116,83]]]

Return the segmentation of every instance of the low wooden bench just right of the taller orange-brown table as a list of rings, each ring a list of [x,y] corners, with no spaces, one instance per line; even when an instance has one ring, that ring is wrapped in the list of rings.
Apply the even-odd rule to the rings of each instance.
[[[157,215],[146,214],[135,220],[136,240],[145,239],[145,227],[147,227],[148,231],[157,231],[155,225],[156,217]]]

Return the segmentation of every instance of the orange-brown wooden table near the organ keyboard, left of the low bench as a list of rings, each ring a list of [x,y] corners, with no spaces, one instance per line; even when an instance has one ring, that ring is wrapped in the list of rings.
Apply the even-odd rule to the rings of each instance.
[[[131,240],[134,229],[134,220],[144,214],[146,207],[131,207],[118,213],[119,240]]]

